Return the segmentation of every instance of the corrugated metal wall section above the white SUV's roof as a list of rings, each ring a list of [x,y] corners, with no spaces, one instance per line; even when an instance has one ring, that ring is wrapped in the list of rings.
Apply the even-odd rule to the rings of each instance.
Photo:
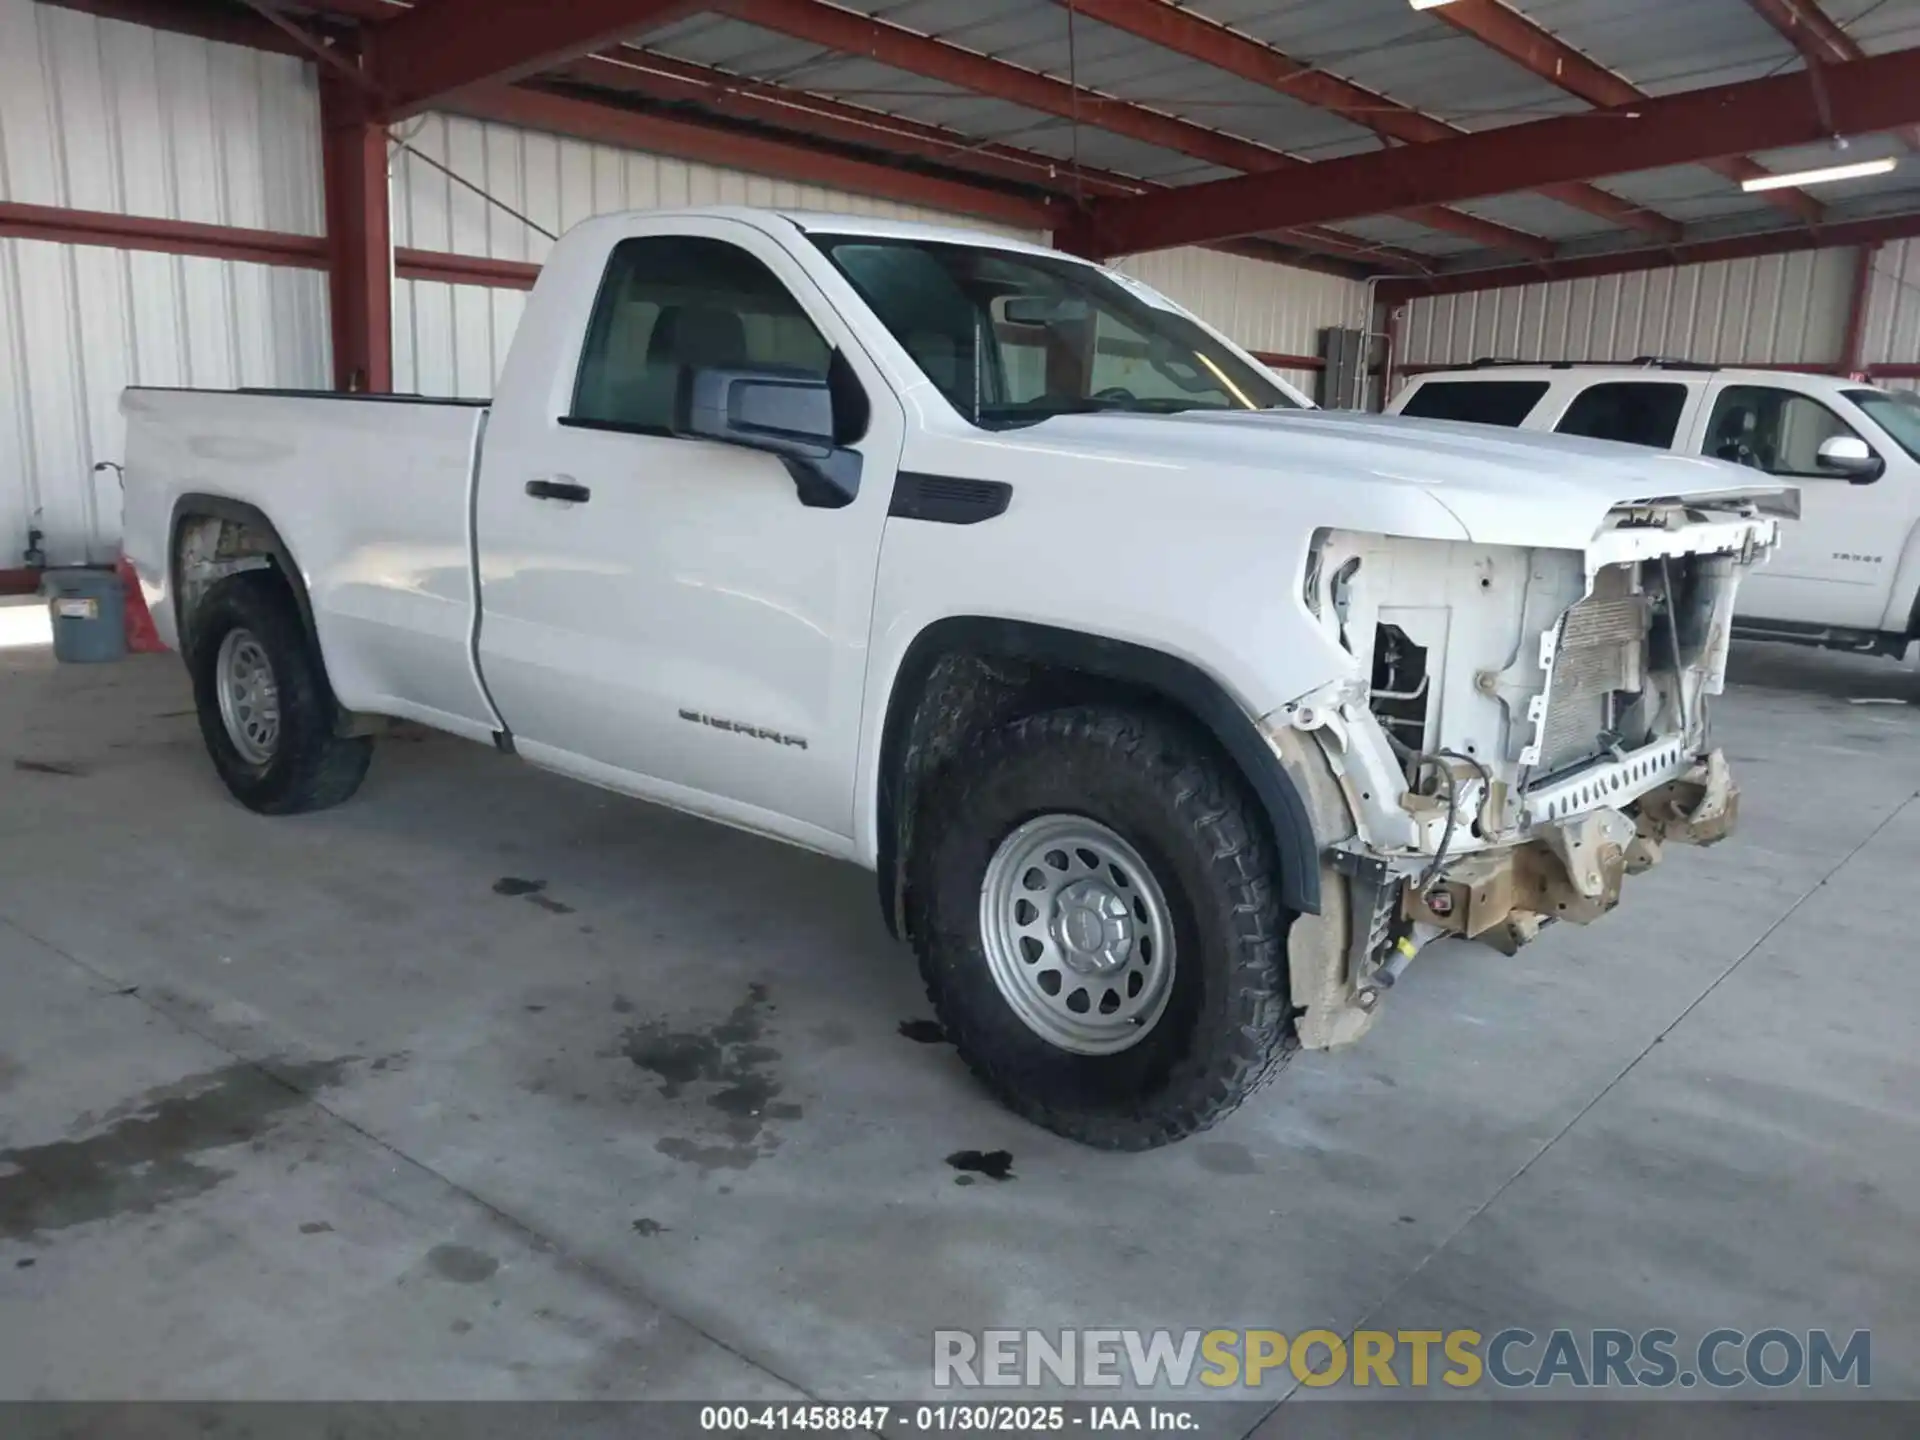
[[[1415,300],[1396,363],[1665,355],[1832,365],[1845,342],[1853,273],[1855,252],[1811,250]]]

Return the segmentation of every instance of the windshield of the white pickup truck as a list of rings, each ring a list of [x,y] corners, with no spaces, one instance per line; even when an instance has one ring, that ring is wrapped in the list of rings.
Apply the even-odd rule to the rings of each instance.
[[[1092,265],[935,240],[814,244],[973,424],[1296,407],[1204,326]]]

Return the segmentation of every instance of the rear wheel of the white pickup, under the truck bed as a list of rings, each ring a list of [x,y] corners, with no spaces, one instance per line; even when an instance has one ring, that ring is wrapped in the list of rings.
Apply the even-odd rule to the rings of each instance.
[[[359,789],[372,741],[334,733],[332,687],[278,576],[248,570],[207,591],[188,670],[207,755],[244,806],[300,814]]]

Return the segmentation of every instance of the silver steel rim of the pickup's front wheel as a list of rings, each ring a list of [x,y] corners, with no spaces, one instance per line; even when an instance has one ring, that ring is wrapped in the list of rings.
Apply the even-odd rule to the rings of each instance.
[[[1087,816],[1039,816],[1000,841],[979,933],[1000,998],[1073,1054],[1139,1044],[1173,995],[1165,891],[1133,845]]]

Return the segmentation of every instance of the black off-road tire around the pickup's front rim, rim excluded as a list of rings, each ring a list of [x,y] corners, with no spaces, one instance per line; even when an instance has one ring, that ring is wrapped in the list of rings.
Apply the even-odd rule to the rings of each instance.
[[[1052,812],[1123,835],[1171,910],[1173,993],[1117,1054],[1073,1054],[1029,1029],[985,954],[987,864]],[[1271,843],[1240,780],[1177,718],[1068,708],[985,732],[929,781],[914,831],[908,908],[927,996],[1016,1114],[1102,1150],[1150,1150],[1219,1121],[1296,1048]]]

